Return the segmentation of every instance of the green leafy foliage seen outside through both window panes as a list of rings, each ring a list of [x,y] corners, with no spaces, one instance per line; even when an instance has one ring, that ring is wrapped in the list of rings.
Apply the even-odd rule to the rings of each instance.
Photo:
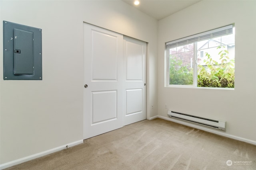
[[[234,88],[234,59],[229,59],[228,51],[224,46],[219,46],[218,55],[221,63],[214,61],[206,53],[204,60],[206,66],[198,65],[197,87]],[[170,56],[170,84],[192,85],[193,69],[182,65],[182,61]]]

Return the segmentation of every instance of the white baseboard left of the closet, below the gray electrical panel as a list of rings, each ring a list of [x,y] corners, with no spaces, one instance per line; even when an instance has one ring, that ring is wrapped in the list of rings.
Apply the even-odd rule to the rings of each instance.
[[[14,166],[14,165],[17,165],[17,164],[21,164],[23,162],[27,162],[29,160],[32,160],[32,159],[35,159],[35,158],[39,158],[39,157],[42,157],[42,156],[45,156],[47,154],[51,154],[51,153],[54,153],[54,152],[57,152],[57,151],[60,151],[60,150],[63,150],[63,149],[66,149],[67,146],[68,147],[73,147],[75,145],[78,145],[78,144],[81,144],[83,143],[84,140],[79,140],[79,141],[75,141],[75,142],[72,142],[72,143],[68,143],[66,145],[62,145],[60,147],[56,147],[56,148],[53,148],[53,149],[50,149],[50,150],[46,150],[44,152],[40,152],[40,153],[37,153],[37,154],[33,154],[33,155],[30,155],[30,156],[26,156],[24,158],[20,158],[20,159],[17,159],[17,160],[13,160],[11,162],[7,162],[7,163],[4,163],[4,164],[0,164],[0,170],[4,169],[4,168],[8,168],[8,167],[11,167],[11,166]]]

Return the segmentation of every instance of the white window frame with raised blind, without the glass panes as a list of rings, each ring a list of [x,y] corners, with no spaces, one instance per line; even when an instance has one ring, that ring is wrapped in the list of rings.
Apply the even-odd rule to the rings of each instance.
[[[166,68],[166,76],[165,76],[165,86],[166,87],[179,87],[179,88],[209,88],[209,89],[225,89],[225,90],[234,90],[234,88],[213,88],[213,87],[197,87],[197,57],[196,57],[196,42],[198,41],[203,41],[206,39],[212,39],[215,37],[221,37],[224,35],[229,35],[233,33],[233,27],[234,24],[227,25],[224,27],[220,27],[217,29],[212,29],[210,31],[205,31],[203,33],[198,33],[195,35],[191,35],[188,37],[184,37],[181,39],[177,39],[174,41],[170,41],[166,43],[166,63],[165,63],[165,68]],[[170,48],[174,47],[179,47],[182,45],[190,44],[190,43],[195,43],[194,45],[194,55],[193,55],[193,85],[178,85],[178,84],[169,84],[170,82],[170,68],[169,68],[169,59],[170,59]]]

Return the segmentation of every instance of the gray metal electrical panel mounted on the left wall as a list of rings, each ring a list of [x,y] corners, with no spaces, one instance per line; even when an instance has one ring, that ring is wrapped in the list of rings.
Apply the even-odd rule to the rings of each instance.
[[[4,80],[42,80],[42,29],[3,21]]]

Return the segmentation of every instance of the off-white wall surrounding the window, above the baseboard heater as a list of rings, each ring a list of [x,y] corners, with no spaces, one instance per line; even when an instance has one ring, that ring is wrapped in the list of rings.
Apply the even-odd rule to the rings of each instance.
[[[235,89],[164,87],[165,43],[235,23]],[[224,136],[256,144],[256,1],[201,1],[159,21],[158,114],[167,110],[226,121]],[[168,109],[165,109],[165,104]],[[174,120],[174,119],[173,119]]]

